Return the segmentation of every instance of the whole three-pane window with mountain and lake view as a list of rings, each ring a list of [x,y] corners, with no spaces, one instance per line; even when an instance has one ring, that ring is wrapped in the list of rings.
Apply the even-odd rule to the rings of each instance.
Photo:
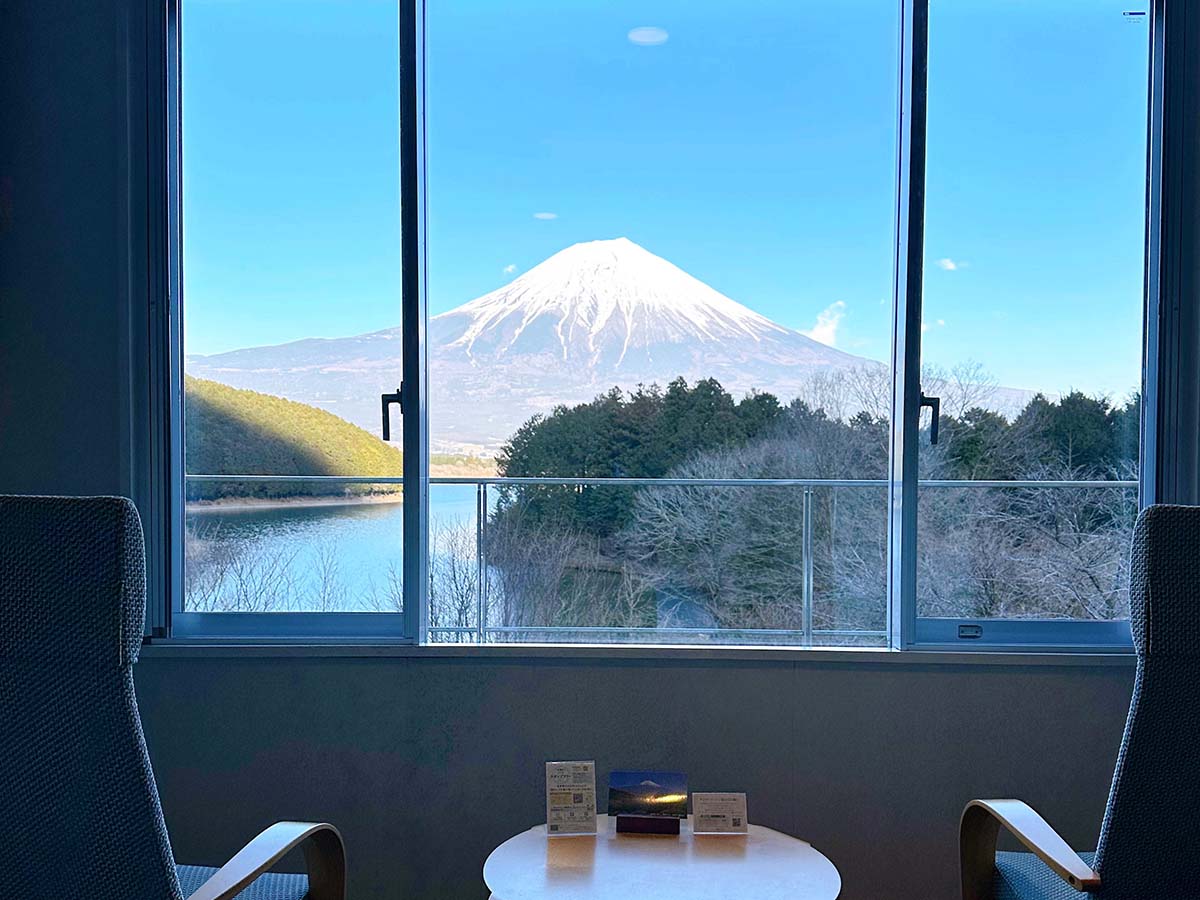
[[[1128,12],[179,0],[174,631],[1127,642]]]

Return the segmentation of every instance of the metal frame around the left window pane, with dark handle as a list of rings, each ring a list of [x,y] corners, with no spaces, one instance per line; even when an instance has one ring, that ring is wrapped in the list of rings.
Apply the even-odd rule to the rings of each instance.
[[[427,556],[428,518],[428,410],[425,360],[425,158],[424,158],[424,22],[422,0],[397,0],[400,49],[400,193],[414,197],[401,203],[401,433],[403,448],[402,571],[403,610],[400,613],[253,613],[190,612],[184,608],[184,515],[187,472],[184,463],[184,264],[182,264],[182,1],[158,5],[162,36],[166,103],[162,118],[167,168],[158,199],[167,209],[166,266],[169,272],[163,305],[162,332],[169,344],[169,374],[164,398],[163,442],[169,446],[166,478],[160,481],[169,497],[169,535],[161,556],[168,575],[161,602],[155,604],[164,622],[161,631],[179,638],[226,641],[350,641],[385,640],[424,643],[428,620]],[[151,24],[154,28],[154,23]],[[151,53],[152,55],[152,53]],[[412,61],[407,65],[406,61]],[[152,85],[151,85],[152,89]],[[414,140],[404,139],[413,134]],[[162,346],[162,336],[157,338]],[[379,479],[367,479],[373,484]],[[388,480],[388,479],[383,479]]]

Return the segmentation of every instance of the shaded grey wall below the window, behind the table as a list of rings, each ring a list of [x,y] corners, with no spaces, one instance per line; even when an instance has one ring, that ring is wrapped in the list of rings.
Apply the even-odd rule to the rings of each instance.
[[[544,763],[688,773],[812,842],[845,900],[958,896],[973,797],[1096,845],[1126,664],[431,658],[143,659],[176,857],[218,864],[278,818],[337,824],[350,895],[486,898],[484,860],[545,821]],[[602,790],[601,790],[602,794]]]

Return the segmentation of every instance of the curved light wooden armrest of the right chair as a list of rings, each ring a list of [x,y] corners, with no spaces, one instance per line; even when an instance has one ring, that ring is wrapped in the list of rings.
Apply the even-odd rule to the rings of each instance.
[[[1022,800],[971,800],[959,824],[962,900],[992,900],[996,838],[1004,826],[1075,890],[1096,890],[1100,876]]]

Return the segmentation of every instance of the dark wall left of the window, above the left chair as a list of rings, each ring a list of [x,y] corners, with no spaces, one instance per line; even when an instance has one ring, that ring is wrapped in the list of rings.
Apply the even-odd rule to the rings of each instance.
[[[4,492],[118,493],[127,484],[119,6],[0,2]]]

